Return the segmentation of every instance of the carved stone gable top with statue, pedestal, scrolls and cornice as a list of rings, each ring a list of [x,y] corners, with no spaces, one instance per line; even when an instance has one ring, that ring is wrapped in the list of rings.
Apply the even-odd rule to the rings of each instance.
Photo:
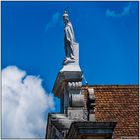
[[[73,27],[67,12],[64,12],[63,19],[66,57],[53,87],[54,95],[61,101],[61,112],[49,114],[46,138],[76,139],[83,138],[83,136],[98,138],[99,133],[105,137],[106,132],[106,138],[110,138],[115,124],[95,122],[94,111],[92,115],[89,114],[90,108],[95,107],[94,90],[87,88],[88,96],[85,103],[82,89],[83,72],[79,66],[79,44],[75,41]],[[85,106],[90,108],[86,109]]]

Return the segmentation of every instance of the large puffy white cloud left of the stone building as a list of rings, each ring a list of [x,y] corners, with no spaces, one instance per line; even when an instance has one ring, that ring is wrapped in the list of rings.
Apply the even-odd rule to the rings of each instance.
[[[2,137],[44,138],[54,100],[39,77],[26,75],[16,66],[2,70]]]

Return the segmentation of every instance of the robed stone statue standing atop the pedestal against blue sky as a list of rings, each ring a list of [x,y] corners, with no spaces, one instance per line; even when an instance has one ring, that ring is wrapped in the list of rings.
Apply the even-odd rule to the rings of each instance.
[[[63,20],[64,20],[64,24],[65,24],[64,47],[65,47],[65,54],[66,54],[64,64],[67,64],[67,63],[71,63],[71,62],[75,61],[74,44],[76,42],[75,42],[73,27],[72,27],[72,24],[68,18],[68,14],[66,11],[63,14]]]

